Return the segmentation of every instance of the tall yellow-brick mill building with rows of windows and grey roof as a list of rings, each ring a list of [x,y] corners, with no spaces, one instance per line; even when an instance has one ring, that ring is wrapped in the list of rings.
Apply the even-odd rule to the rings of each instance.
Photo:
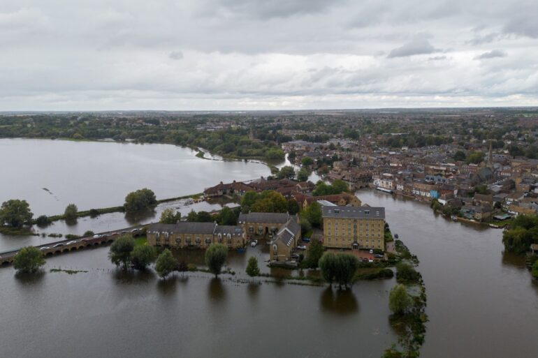
[[[323,246],[384,250],[384,207],[323,207]]]

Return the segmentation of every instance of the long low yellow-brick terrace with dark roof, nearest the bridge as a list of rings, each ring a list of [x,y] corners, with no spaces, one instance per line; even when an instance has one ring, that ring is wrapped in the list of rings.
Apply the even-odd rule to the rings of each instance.
[[[207,248],[214,242],[239,248],[247,240],[240,226],[217,223],[152,224],[147,229],[147,244],[152,246]]]

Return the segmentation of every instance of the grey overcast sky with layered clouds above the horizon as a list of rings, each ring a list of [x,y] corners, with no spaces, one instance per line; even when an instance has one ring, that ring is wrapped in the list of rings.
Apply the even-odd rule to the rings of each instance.
[[[538,105],[538,0],[0,0],[0,110]]]

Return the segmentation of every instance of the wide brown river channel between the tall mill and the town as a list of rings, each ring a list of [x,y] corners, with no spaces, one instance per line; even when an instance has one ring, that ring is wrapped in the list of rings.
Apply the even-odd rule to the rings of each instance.
[[[523,257],[503,253],[502,230],[377,191],[357,196],[385,207],[392,232],[419,257],[430,318],[421,357],[538,357],[538,285]]]

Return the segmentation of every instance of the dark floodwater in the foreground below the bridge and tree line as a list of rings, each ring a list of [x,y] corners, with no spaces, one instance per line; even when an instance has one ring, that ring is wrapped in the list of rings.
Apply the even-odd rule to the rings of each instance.
[[[393,280],[347,291],[252,283],[241,271],[248,255],[263,256],[257,246],[230,253],[235,276],[161,281],[116,269],[107,253],[48,258],[35,276],[0,269],[2,357],[380,357],[397,340],[388,323]]]

